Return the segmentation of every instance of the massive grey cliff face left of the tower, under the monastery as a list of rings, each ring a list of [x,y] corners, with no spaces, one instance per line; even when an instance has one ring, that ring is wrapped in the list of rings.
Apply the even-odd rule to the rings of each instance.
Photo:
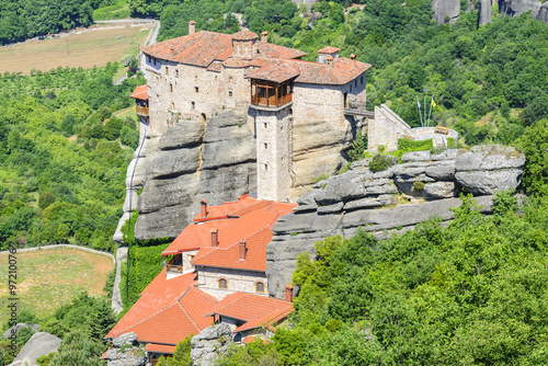
[[[203,123],[180,121],[161,136],[147,136],[135,174],[135,163],[128,168],[126,183],[133,175],[133,190],[119,227],[132,201],[139,211],[137,239],[174,238],[197,214],[199,201],[218,205],[256,192],[256,147],[247,121],[244,114],[228,111]]]

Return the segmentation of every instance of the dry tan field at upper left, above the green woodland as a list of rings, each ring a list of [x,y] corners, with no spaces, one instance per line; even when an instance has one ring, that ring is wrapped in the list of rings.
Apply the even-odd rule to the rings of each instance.
[[[18,44],[0,48],[0,72],[23,72],[32,69],[49,71],[53,68],[93,66],[122,61],[136,56],[148,36],[151,25],[104,27],[82,31],[57,39]],[[119,39],[118,39],[119,36]]]

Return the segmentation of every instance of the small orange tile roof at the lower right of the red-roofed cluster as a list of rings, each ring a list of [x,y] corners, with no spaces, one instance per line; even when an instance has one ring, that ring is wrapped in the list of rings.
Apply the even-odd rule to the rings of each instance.
[[[260,295],[236,293],[219,301],[213,312],[244,321],[235,332],[271,327],[293,311],[293,304]]]

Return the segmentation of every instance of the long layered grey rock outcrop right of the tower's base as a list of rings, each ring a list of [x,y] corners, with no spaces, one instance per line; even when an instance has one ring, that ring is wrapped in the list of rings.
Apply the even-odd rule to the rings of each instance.
[[[402,233],[432,216],[452,220],[460,192],[473,194],[481,211],[492,211],[496,191],[521,182],[524,156],[514,148],[473,147],[470,151],[408,152],[401,164],[373,173],[369,160],[316,184],[297,201],[294,213],[273,227],[266,248],[269,293],[282,298],[290,282],[297,254],[313,253],[316,240],[353,237],[358,228],[379,239]]]

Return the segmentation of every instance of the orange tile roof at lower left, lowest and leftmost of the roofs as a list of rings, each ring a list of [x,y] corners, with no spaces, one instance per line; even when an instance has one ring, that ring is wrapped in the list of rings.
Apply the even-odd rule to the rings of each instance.
[[[168,281],[163,270],[105,338],[135,332],[139,342],[175,345],[199,333],[213,323],[203,314],[210,313],[217,299],[197,289],[195,283],[195,273]]]

